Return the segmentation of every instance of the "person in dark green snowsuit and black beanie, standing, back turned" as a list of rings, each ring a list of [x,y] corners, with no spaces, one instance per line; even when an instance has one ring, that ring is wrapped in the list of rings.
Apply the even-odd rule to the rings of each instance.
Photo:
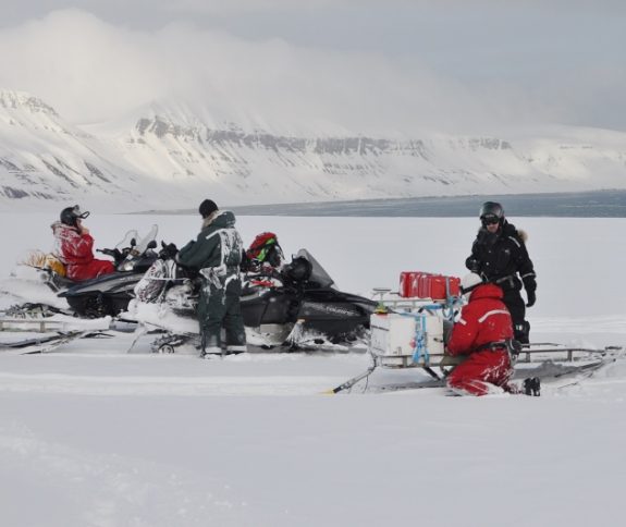
[[[199,272],[198,302],[202,357],[224,354],[221,330],[225,329],[225,353],[246,351],[246,332],[240,305],[240,264],[244,244],[235,229],[235,216],[219,210],[211,199],[200,204],[202,229],[195,241],[176,255],[180,265]]]

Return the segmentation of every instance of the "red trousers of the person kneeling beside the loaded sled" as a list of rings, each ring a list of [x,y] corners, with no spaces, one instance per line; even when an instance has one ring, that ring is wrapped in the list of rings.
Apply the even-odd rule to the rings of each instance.
[[[508,380],[513,376],[513,368],[508,353],[503,350],[492,352],[486,350],[476,352],[447,376],[447,385],[454,391],[465,392],[469,395],[487,395],[501,392],[494,389],[500,387],[511,391]]]

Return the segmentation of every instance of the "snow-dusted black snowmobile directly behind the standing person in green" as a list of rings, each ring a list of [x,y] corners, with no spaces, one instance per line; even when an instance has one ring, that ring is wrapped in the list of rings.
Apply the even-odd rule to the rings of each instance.
[[[241,307],[249,350],[347,350],[364,336],[377,303],[337,290],[308,250],[300,249],[279,269],[259,264],[248,262],[243,274]],[[198,285],[173,258],[155,262],[124,316],[164,331],[152,343],[155,352],[197,345]]]

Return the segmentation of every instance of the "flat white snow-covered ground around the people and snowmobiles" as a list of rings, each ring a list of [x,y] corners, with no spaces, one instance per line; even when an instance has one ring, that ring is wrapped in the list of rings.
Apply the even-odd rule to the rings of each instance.
[[[0,213],[0,278],[49,249],[56,215]],[[533,341],[626,344],[626,220],[524,218],[538,272]],[[196,216],[100,216],[98,247],[159,224],[184,244]],[[249,243],[308,248],[342,290],[397,287],[402,270],[462,275],[475,219],[242,217]],[[10,298],[0,298],[0,307]],[[364,353],[151,355],[133,334],[47,355],[0,352],[0,525],[622,525],[626,364],[541,397],[443,389],[322,395]],[[371,382],[415,379],[382,370]],[[373,377],[373,376],[372,376]]]

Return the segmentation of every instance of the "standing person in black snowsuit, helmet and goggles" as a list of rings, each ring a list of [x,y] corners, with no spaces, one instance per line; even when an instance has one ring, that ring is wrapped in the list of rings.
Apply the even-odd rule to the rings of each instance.
[[[487,201],[480,208],[481,228],[471,246],[465,266],[494,283],[504,292],[504,304],[513,319],[515,339],[529,342],[530,323],[525,320],[526,308],[537,299],[537,280],[532,261],[526,249],[527,235],[506,221],[502,205]],[[528,302],[521,298],[521,286]]]

